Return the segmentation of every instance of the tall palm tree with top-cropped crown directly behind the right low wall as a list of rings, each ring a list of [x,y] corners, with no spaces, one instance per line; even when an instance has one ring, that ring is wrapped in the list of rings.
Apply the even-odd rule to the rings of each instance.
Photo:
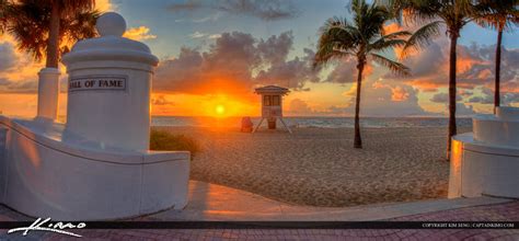
[[[480,3],[473,0],[387,0],[389,8],[403,13],[405,22],[424,26],[415,32],[404,46],[403,54],[410,49],[419,49],[430,43],[435,35],[439,35],[439,27],[447,26],[450,38],[449,55],[449,134],[447,141],[447,159],[450,159],[451,139],[457,134],[455,126],[455,65],[457,45],[463,26],[476,18]]]

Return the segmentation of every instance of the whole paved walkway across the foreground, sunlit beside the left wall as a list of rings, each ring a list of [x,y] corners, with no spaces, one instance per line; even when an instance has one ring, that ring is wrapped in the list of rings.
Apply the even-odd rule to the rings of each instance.
[[[191,182],[189,205],[182,211],[166,210],[132,220],[394,220],[394,221],[518,221],[519,200],[460,198],[353,208],[290,206],[224,186]],[[0,206],[0,221],[32,220]],[[32,232],[7,234],[0,240],[77,240],[61,234]],[[89,240],[519,240],[514,230],[79,230]]]

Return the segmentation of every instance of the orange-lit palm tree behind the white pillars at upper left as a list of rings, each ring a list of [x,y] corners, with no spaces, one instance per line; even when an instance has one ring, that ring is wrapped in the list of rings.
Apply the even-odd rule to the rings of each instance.
[[[96,35],[100,13],[92,10],[93,4],[94,0],[19,0],[10,3],[5,28],[19,49],[38,61],[46,56],[46,67],[58,68],[68,44]]]

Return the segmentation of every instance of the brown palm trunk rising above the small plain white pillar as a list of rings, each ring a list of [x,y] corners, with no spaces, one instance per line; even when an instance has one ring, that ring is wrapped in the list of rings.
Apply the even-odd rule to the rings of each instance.
[[[58,68],[60,5],[53,4],[47,42],[47,68]]]

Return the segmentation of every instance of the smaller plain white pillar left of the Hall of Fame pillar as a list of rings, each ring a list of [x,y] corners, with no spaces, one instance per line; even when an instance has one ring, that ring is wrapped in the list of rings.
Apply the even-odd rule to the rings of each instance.
[[[38,72],[38,112],[36,118],[57,119],[59,74],[59,70],[56,68],[44,68]]]

